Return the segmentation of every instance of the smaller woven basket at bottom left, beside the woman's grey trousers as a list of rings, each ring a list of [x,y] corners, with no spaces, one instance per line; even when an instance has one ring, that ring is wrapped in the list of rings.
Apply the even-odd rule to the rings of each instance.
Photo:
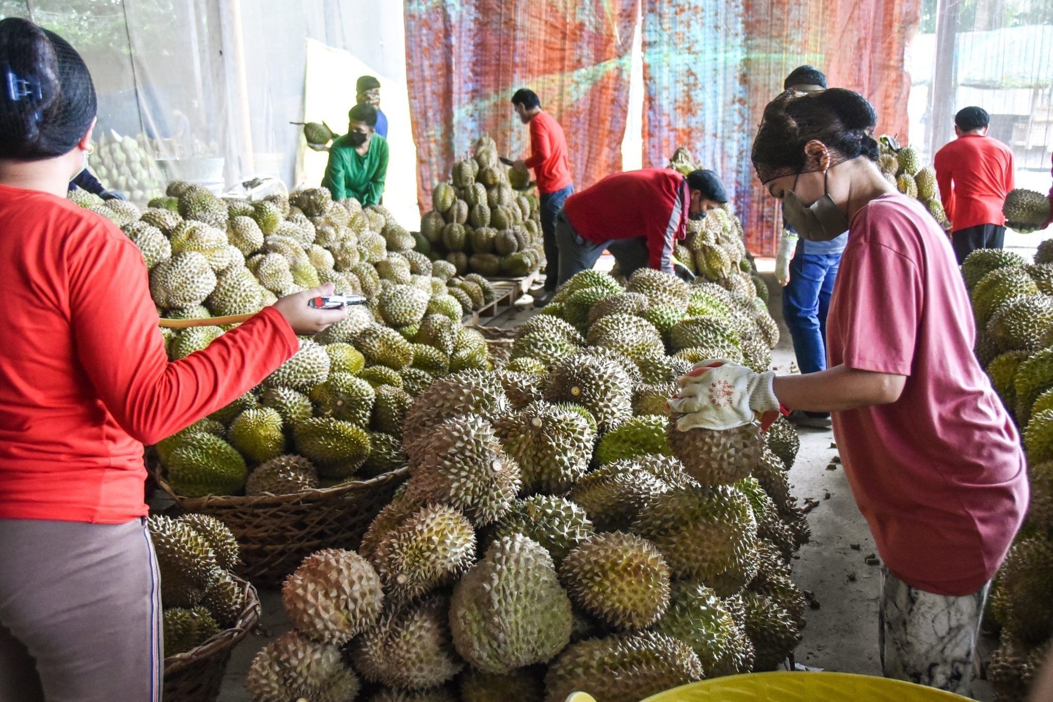
[[[164,702],[213,702],[219,697],[231,651],[260,618],[256,588],[235,578],[245,594],[245,607],[232,628],[220,631],[197,648],[164,659]]]

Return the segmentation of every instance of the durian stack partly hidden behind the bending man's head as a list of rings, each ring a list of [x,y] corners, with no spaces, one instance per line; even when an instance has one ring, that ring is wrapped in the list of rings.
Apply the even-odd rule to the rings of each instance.
[[[691,152],[680,146],[673,154],[669,167],[687,176],[700,166]],[[731,205],[711,210],[701,221],[689,221],[688,236],[675,243],[673,256],[703,280],[742,295],[756,295],[768,302],[768,286],[746,249],[742,223]]]

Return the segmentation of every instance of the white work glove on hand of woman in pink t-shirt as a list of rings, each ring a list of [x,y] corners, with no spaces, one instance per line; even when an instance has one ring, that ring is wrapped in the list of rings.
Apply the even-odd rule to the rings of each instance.
[[[677,380],[677,394],[670,398],[669,407],[683,415],[676,421],[681,432],[733,429],[770,413],[775,413],[774,421],[779,410],[772,390],[774,378],[774,370],[754,373],[726,359],[700,361]]]

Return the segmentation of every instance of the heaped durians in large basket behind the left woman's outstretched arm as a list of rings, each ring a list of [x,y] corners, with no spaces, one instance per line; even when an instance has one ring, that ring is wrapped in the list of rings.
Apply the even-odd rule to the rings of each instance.
[[[167,192],[165,206],[142,213],[119,200],[88,205],[139,246],[162,317],[252,313],[322,282],[369,298],[301,339],[259,387],[158,444],[178,494],[282,495],[397,468],[410,401],[448,373],[491,367],[483,337],[461,324],[493,299],[490,283],[414,250],[382,207],[336,203],[321,188],[257,202],[186,183]],[[226,328],[159,334],[175,360]]]

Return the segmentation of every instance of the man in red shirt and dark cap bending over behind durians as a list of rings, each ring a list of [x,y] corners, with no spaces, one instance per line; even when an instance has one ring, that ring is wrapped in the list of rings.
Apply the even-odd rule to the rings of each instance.
[[[596,265],[603,249],[624,276],[644,266],[674,273],[673,246],[687,236],[688,219],[702,219],[728,201],[712,171],[687,177],[672,168],[608,176],[567,199],[556,215],[559,284]]]

